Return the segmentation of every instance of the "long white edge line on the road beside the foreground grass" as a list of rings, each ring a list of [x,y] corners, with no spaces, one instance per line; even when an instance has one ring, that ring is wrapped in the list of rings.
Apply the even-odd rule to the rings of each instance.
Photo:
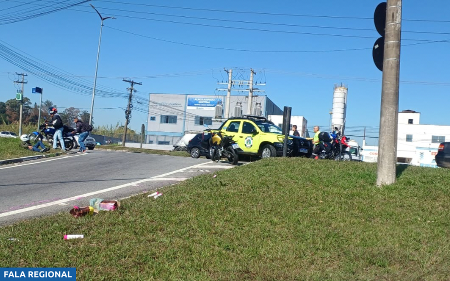
[[[118,186],[113,186],[113,187],[109,187],[109,188],[105,188],[105,189],[102,189],[102,190],[97,190],[97,191],[94,191],[94,192],[89,192],[89,193],[85,193],[85,194],[81,194],[81,195],[72,196],[72,197],[69,197],[69,198],[66,198],[66,199],[61,199],[61,200],[57,200],[57,201],[53,201],[53,202],[49,202],[49,203],[45,203],[45,204],[41,204],[41,205],[36,205],[36,206],[32,206],[32,207],[27,207],[27,208],[23,208],[23,209],[18,209],[18,210],[14,210],[14,211],[10,211],[10,212],[0,213],[0,218],[11,216],[11,215],[16,215],[16,214],[20,214],[20,213],[24,213],[24,212],[28,212],[28,211],[32,211],[32,210],[37,210],[37,209],[41,209],[41,208],[45,208],[45,207],[50,207],[50,206],[54,206],[54,205],[59,205],[59,204],[66,203],[66,202],[69,202],[69,201],[85,198],[85,197],[96,195],[96,194],[99,194],[99,193],[104,193],[104,192],[108,192],[108,191],[112,191],[112,190],[121,189],[121,188],[124,188],[124,187],[127,187],[127,186],[132,186],[132,185],[135,185],[135,184],[140,184],[140,183],[144,183],[144,182],[148,182],[148,181],[156,181],[156,180],[164,181],[166,179],[170,179],[170,178],[164,178],[166,176],[169,176],[169,175],[172,175],[172,174],[176,174],[176,173],[179,173],[180,171],[185,171],[187,169],[195,169],[195,168],[201,167],[202,165],[204,165],[206,163],[208,163],[208,162],[204,162],[204,163],[201,163],[201,164],[196,164],[196,165],[193,165],[193,166],[189,166],[189,167],[186,167],[186,168],[178,169],[178,170],[175,170],[175,171],[172,171],[172,172],[168,172],[168,173],[165,173],[165,174],[161,174],[161,175],[158,175],[158,176],[154,176],[154,177],[151,177],[151,178],[138,180],[138,181],[135,181],[135,182],[122,184],[122,185],[118,185]],[[163,179],[161,179],[161,178],[163,178]],[[171,178],[171,179],[177,179],[177,178]]]

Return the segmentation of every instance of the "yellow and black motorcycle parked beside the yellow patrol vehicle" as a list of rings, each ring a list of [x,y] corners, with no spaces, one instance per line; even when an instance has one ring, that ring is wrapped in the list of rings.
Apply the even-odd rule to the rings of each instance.
[[[203,125],[207,132],[211,132],[208,125]],[[238,149],[239,145],[233,141],[233,136],[223,137],[220,132],[211,132],[209,139],[209,157],[212,161],[219,161],[225,157],[228,162],[237,165],[239,157],[234,149]]]

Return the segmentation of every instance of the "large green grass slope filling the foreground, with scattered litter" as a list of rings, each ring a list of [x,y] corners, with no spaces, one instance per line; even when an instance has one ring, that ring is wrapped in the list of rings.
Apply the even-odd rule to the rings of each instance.
[[[448,280],[450,173],[398,172],[377,188],[375,164],[261,160],[118,211],[3,227],[0,264],[77,280]]]

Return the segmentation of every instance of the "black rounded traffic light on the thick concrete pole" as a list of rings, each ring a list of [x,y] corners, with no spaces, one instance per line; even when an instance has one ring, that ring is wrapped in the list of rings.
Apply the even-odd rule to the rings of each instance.
[[[383,71],[383,54],[384,54],[384,28],[386,27],[386,2],[379,3],[375,12],[373,13],[373,22],[375,23],[376,31],[378,31],[379,37],[373,44],[372,57],[376,68]]]

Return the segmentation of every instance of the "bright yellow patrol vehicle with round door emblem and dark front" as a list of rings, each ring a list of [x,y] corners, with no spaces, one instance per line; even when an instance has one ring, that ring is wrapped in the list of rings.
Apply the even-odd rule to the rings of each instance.
[[[284,135],[281,128],[267,120],[263,116],[244,115],[243,117],[231,117],[217,129],[222,136],[233,136],[233,140],[239,145],[236,150],[238,155],[269,158],[283,155]],[[297,156],[310,156],[312,142],[310,140],[288,136],[287,155],[292,154],[293,140],[298,141],[299,151]]]

